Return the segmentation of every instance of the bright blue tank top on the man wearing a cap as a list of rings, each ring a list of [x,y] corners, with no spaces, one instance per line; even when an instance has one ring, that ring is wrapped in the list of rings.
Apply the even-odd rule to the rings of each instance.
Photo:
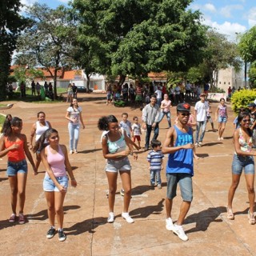
[[[174,146],[182,146],[193,142],[192,128],[189,127],[188,132],[183,133],[174,126],[177,134]],[[193,149],[178,150],[173,154],[169,154],[168,162],[166,165],[166,174],[190,174],[194,175],[193,170]]]

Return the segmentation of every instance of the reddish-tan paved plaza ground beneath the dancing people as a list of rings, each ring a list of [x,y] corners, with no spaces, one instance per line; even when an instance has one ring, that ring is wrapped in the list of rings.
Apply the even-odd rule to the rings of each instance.
[[[25,214],[27,222],[10,224],[10,186],[6,178],[6,157],[0,161],[0,255],[256,255],[255,230],[247,219],[249,207],[245,178],[242,175],[234,198],[233,221],[226,218],[227,192],[231,181],[231,162],[234,154],[232,143],[234,114],[228,106],[229,121],[224,140],[218,141],[218,134],[206,132],[202,148],[197,149],[201,157],[194,162],[194,201],[184,223],[189,241],[182,242],[165,227],[166,177],[162,171],[162,190],[150,189],[150,174],[146,162],[146,152],[138,154],[138,161],[130,158],[132,164],[132,199],[130,215],[133,224],[122,217],[122,196],[119,194],[121,181],[118,178],[118,192],[115,202],[115,221],[107,223],[108,202],[106,198],[107,180],[104,172],[105,159],[100,143],[101,131],[97,128],[98,118],[114,114],[121,120],[122,112],[129,119],[142,116],[138,108],[126,106],[117,108],[106,106],[102,94],[80,94],[86,129],[81,130],[78,154],[70,155],[70,163],[78,181],[77,188],[69,188],[64,203],[65,242],[58,242],[58,235],[46,238],[49,223],[46,213],[46,199],[42,190],[45,170],[41,165],[39,174],[33,175],[29,164],[26,186]],[[83,100],[82,100],[83,98]],[[37,113],[45,111],[60,135],[61,143],[68,145],[69,135],[65,119],[66,102],[25,103],[15,102],[4,114],[12,114],[23,120],[23,133],[30,136]],[[218,103],[211,104],[213,111]],[[194,110],[194,106],[192,107]],[[174,122],[175,108],[172,109]],[[212,114],[214,117],[214,114]],[[217,122],[214,122],[217,127]],[[160,123],[159,139],[166,136],[166,118]],[[206,130],[210,130],[207,124]],[[142,134],[144,145],[145,133]],[[164,160],[166,162],[166,159]],[[180,193],[174,199],[172,218],[178,218],[181,203]]]

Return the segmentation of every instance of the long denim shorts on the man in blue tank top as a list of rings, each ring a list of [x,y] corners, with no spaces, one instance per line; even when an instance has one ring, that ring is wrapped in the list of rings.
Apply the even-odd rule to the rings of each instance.
[[[176,197],[177,184],[180,187],[182,199],[186,202],[193,200],[192,177],[190,174],[166,174],[167,194],[166,197]]]

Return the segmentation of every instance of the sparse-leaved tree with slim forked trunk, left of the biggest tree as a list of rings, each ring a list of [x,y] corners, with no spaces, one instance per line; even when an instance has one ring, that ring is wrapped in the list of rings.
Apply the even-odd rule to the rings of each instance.
[[[58,70],[64,71],[72,66],[75,24],[70,19],[69,10],[58,6],[56,10],[35,3],[27,11],[30,26],[18,38],[19,54],[23,61],[34,62],[46,67],[54,77],[54,98],[57,97]],[[22,57],[20,57],[22,59]],[[29,63],[27,63],[29,64]]]

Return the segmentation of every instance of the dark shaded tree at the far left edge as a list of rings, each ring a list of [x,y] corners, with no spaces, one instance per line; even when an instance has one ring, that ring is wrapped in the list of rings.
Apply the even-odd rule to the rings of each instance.
[[[6,98],[6,84],[10,72],[11,56],[15,50],[18,34],[26,26],[26,18],[18,14],[19,0],[0,2],[0,99]]]

